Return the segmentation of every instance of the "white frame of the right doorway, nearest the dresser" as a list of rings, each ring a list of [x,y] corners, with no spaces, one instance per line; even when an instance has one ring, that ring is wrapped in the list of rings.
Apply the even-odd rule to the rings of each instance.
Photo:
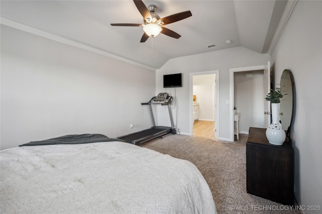
[[[229,69],[229,141],[234,141],[234,134],[233,134],[233,124],[234,124],[234,115],[233,115],[233,106],[234,106],[234,76],[235,72],[242,72],[242,71],[255,71],[255,70],[264,70],[267,65],[257,65],[257,66],[250,66],[250,67],[241,67],[241,68],[230,68]],[[264,100],[264,99],[263,99]]]

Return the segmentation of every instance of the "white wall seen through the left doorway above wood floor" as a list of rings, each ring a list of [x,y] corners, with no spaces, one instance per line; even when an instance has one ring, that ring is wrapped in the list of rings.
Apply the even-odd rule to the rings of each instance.
[[[193,94],[199,104],[199,120],[215,121],[215,74],[193,76]]]

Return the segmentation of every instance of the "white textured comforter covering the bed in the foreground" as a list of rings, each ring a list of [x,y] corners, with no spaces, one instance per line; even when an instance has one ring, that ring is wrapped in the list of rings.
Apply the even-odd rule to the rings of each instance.
[[[216,213],[189,161],[122,142],[1,151],[1,213]]]

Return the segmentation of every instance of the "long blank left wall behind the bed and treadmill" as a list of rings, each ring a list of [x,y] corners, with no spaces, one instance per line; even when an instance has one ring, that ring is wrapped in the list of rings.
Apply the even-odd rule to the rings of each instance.
[[[1,149],[152,126],[155,72],[1,26]],[[130,124],[134,128],[130,130]]]

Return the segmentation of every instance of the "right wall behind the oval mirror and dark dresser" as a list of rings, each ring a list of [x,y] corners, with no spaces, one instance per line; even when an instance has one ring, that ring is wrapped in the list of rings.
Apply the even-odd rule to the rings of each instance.
[[[295,80],[295,195],[302,205],[322,205],[322,2],[299,1],[272,53],[275,82],[284,69]],[[305,210],[321,213],[321,210]]]

